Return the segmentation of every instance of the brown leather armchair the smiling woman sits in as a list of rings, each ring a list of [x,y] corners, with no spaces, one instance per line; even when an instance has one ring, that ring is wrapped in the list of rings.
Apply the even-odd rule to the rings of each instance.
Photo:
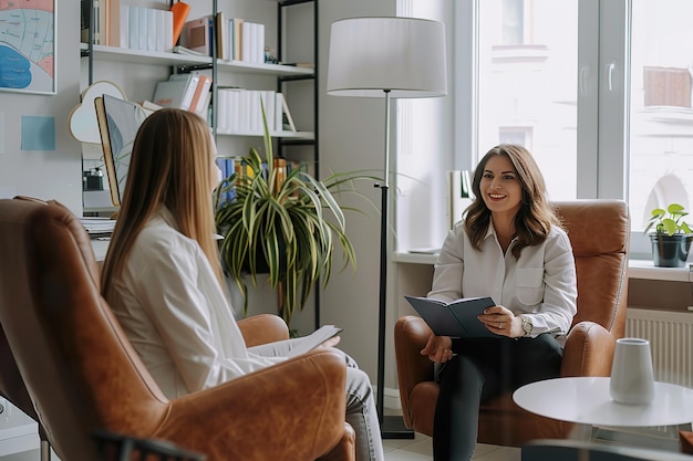
[[[629,212],[621,200],[555,203],[572,244],[578,313],[566,344],[561,376],[609,376],[616,339],[623,336],[628,294]],[[433,363],[420,354],[431,335],[417,316],[401,317],[394,332],[400,399],[405,425],[433,436],[438,385]],[[570,398],[570,396],[566,396]],[[572,425],[530,413],[499,396],[479,409],[478,442],[521,447],[532,439],[563,439]]]

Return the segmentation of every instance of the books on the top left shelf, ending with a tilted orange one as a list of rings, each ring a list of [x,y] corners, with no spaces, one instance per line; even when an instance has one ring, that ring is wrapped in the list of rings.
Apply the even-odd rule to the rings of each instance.
[[[90,8],[94,24],[90,24]],[[94,44],[169,52],[178,41],[189,6],[182,1],[170,10],[123,4],[121,0],[82,0],[82,41],[94,28]]]

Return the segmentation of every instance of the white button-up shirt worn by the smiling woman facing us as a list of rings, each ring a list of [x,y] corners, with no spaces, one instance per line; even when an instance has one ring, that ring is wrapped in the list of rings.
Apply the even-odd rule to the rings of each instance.
[[[482,251],[475,250],[464,222],[457,222],[443,243],[428,296],[444,301],[490,296],[515,314],[529,314],[532,337],[552,332],[562,346],[577,312],[570,240],[562,229],[551,226],[548,238],[525,247],[519,260],[510,251],[515,242],[504,254],[489,226]]]

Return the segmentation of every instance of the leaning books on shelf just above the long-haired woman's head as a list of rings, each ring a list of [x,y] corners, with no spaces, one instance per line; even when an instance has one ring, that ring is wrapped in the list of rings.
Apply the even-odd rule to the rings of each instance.
[[[207,118],[211,101],[211,77],[200,72],[172,74],[156,84],[152,102],[162,107],[190,111]]]

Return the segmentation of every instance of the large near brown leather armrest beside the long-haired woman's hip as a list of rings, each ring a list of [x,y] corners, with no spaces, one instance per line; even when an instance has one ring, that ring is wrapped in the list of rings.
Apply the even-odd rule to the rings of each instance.
[[[344,437],[345,376],[343,358],[313,350],[173,400],[152,437],[208,459],[316,460]]]

